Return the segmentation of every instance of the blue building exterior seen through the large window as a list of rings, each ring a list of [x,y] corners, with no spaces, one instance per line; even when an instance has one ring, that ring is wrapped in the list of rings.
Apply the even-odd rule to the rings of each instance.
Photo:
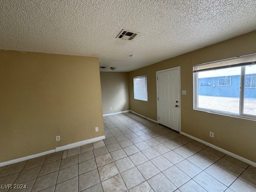
[[[256,98],[256,74],[245,75],[244,98]],[[198,78],[198,95],[238,97],[240,75]]]

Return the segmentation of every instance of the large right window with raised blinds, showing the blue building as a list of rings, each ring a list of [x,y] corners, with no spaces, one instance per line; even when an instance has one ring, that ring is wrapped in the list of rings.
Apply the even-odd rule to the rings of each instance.
[[[194,109],[256,120],[256,54],[199,64]]]

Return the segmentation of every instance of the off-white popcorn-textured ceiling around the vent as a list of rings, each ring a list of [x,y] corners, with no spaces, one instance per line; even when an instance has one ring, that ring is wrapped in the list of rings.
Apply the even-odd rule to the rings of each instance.
[[[94,56],[101,71],[128,72],[256,30],[255,9],[255,0],[0,0],[0,49]],[[121,40],[122,29],[140,34]]]

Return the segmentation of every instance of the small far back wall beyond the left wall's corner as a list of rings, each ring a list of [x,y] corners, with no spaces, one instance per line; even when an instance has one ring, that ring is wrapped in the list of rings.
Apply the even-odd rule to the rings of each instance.
[[[100,83],[103,114],[129,110],[128,72],[100,72]]]

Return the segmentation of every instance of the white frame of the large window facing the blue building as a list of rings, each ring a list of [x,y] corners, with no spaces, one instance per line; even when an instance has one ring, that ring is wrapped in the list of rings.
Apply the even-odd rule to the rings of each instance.
[[[252,55],[256,55],[256,54],[252,54]],[[230,60],[231,59],[233,59],[233,58],[230,58]],[[228,59],[226,59],[226,60],[228,60]],[[209,63],[212,63],[212,62],[209,62]],[[205,63],[205,64],[207,65],[208,63]],[[241,65],[239,114],[232,113],[232,112],[220,111],[220,110],[213,110],[213,109],[208,109],[208,108],[199,108],[198,107],[198,87],[199,87],[198,72],[194,72],[194,70],[193,70],[193,109],[198,110],[198,111],[212,113],[212,114],[219,114],[219,115],[224,115],[224,116],[231,116],[231,117],[256,121],[256,116],[244,113],[245,68],[248,65]],[[228,67],[229,66],[226,66],[224,68],[228,68]],[[231,82],[231,78],[230,78],[230,82]]]

